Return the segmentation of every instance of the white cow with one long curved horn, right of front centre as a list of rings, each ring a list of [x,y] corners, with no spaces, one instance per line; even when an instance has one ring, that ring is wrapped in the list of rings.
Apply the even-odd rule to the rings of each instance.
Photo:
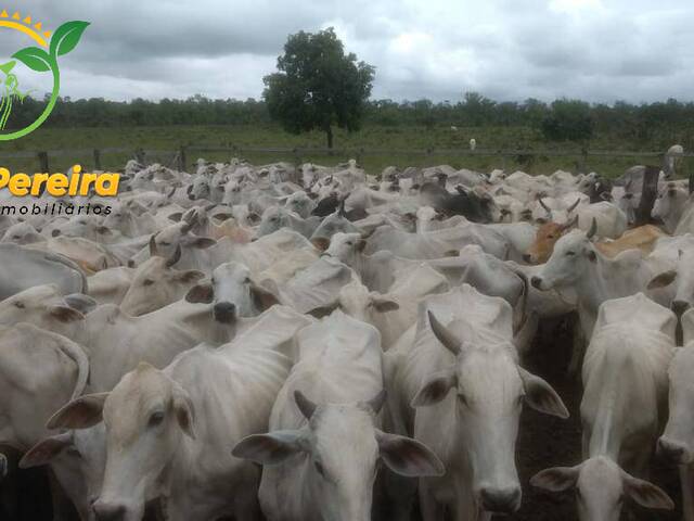
[[[416,326],[386,357],[396,424],[444,461],[420,480],[425,521],[488,520],[520,506],[515,442],[524,403],[561,418],[568,411],[542,379],[518,366],[511,306],[463,284],[422,302]],[[452,392],[451,392],[452,391]]]

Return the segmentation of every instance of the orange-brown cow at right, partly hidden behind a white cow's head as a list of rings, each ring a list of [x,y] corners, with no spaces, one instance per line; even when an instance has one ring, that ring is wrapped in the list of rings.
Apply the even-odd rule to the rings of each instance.
[[[554,244],[560,238],[569,231],[576,221],[567,223],[566,225],[557,225],[556,223],[548,223],[538,228],[537,237],[532,245],[528,249],[523,256],[524,260],[529,264],[543,264],[552,255],[554,251]],[[659,228],[645,225],[627,230],[619,239],[614,241],[601,241],[595,243],[595,247],[606,257],[614,258],[617,254],[626,250],[639,249],[644,255],[650,254],[653,251],[655,242],[667,236]]]

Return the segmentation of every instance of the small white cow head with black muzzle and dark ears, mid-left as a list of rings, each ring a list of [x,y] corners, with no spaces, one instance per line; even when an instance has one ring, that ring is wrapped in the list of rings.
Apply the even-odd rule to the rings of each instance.
[[[272,293],[252,280],[250,270],[240,263],[217,266],[210,281],[191,288],[185,300],[214,304],[215,320],[222,323],[233,323],[239,317],[258,316],[273,304],[279,304]]]

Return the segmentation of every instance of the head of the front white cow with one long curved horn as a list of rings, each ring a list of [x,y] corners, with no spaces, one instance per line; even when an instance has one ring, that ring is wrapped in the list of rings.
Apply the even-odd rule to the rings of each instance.
[[[510,342],[476,345],[466,338],[466,322],[445,327],[427,313],[434,336],[455,358],[424,381],[411,405],[432,406],[451,393],[458,432],[449,435],[459,436],[467,453],[477,504],[490,512],[514,512],[520,506],[515,443],[523,404],[560,418],[568,411],[544,380],[518,366]]]

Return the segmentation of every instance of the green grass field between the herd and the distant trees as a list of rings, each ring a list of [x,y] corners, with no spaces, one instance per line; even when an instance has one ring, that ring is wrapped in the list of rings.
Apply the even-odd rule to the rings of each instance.
[[[446,155],[415,155],[408,151],[434,150],[466,150],[471,138],[475,138],[480,150],[557,150],[576,151],[575,156],[446,156]],[[618,141],[606,136],[597,136],[590,141],[590,150],[611,151],[665,151],[673,143],[651,143],[648,150],[633,143]],[[34,152],[39,150],[85,150],[85,154],[66,152],[61,156],[50,157],[50,167],[53,171],[68,168],[75,163],[86,168],[93,168],[93,156],[89,152],[92,149],[125,148],[134,151],[137,148],[145,150],[175,151],[181,145],[209,145],[209,147],[239,147],[239,148],[324,148],[324,135],[310,132],[293,136],[282,131],[272,125],[229,125],[229,126],[168,126],[168,127],[132,127],[132,128],[40,128],[34,134],[17,141],[0,143],[0,165],[7,166],[12,171],[34,173],[38,169],[38,160],[34,156],[23,158],[2,157],[3,152]],[[335,135],[335,148],[346,149],[345,154],[310,155],[301,156],[301,162],[318,164],[336,164],[357,156],[360,163],[370,174],[377,174],[388,165],[400,168],[407,166],[434,166],[449,164],[453,167],[466,167],[481,171],[490,171],[493,168],[504,168],[507,171],[523,169],[530,174],[551,174],[562,168],[576,170],[580,160],[581,144],[571,142],[545,142],[541,135],[526,127],[485,127],[464,128],[459,127],[452,131],[449,127],[380,127],[367,126],[359,132],[348,134],[340,130]],[[365,150],[396,150],[397,154],[359,154],[359,149]],[[188,154],[189,164],[198,156],[207,160],[228,161],[227,153],[198,153],[191,151]],[[271,163],[275,161],[294,162],[294,154],[282,155],[280,153],[243,153],[244,158],[254,164]],[[123,167],[133,153],[103,153],[102,166],[105,169]],[[170,165],[174,156],[168,153],[152,154],[149,162],[159,162]],[[635,164],[659,164],[658,158],[647,156],[629,157],[588,157],[587,168],[609,177],[616,177],[626,168]],[[694,161],[684,163],[680,175],[686,175],[687,170],[694,171]]]

